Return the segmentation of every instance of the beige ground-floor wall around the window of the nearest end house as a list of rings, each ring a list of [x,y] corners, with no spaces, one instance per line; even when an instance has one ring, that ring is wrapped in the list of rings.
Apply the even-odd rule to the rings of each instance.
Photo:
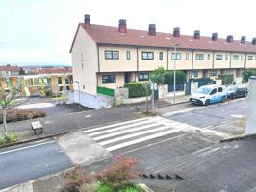
[[[103,75],[115,75],[115,83],[102,83]],[[98,74],[98,85],[106,88],[117,88],[122,87],[124,84],[124,73],[108,73],[108,74]]]

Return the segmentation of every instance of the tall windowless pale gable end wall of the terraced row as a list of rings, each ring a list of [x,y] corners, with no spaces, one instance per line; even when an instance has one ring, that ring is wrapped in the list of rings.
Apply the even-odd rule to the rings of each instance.
[[[79,27],[71,52],[74,89],[96,95],[98,71],[97,45],[83,27]],[[80,88],[78,88],[78,83]]]

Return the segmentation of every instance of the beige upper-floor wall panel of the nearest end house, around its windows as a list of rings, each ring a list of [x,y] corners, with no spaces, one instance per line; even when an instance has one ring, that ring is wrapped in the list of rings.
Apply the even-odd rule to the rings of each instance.
[[[105,51],[119,51],[119,60],[105,60]],[[126,59],[130,51],[131,60]],[[137,49],[134,47],[99,46],[100,72],[136,71]]]

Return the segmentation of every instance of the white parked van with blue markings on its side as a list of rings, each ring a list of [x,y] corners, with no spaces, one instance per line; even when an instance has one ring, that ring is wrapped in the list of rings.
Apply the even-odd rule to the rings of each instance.
[[[201,86],[192,92],[190,102],[205,105],[225,102],[227,99],[226,87],[216,84]]]

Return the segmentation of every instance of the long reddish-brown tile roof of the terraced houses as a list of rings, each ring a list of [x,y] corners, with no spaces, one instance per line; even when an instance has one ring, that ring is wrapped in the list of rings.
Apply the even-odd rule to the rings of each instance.
[[[79,26],[82,26],[86,30],[84,23],[80,23]],[[256,46],[252,45],[251,42],[241,44],[240,41],[234,40],[233,43],[227,43],[226,39],[223,38],[213,41],[211,37],[204,36],[196,40],[193,39],[193,36],[187,35],[181,35],[180,38],[175,38],[172,34],[161,32],[157,32],[156,36],[149,36],[148,31],[128,29],[127,33],[119,33],[117,27],[94,24],[90,26],[91,30],[87,31],[87,33],[96,43],[102,44],[163,48],[171,48],[176,44],[180,44],[179,48],[184,49],[256,53]]]

